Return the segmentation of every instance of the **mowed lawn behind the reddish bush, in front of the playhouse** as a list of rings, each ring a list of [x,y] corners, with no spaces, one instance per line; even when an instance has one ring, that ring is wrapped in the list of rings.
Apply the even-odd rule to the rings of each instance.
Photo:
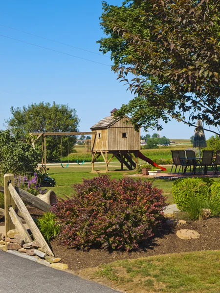
[[[66,166],[66,165],[64,165]],[[170,171],[170,166],[167,167],[167,171]],[[128,175],[135,175],[135,170],[128,170],[125,167],[125,170],[119,170],[120,164],[119,163],[112,163],[110,165],[108,173],[111,178],[115,179],[121,179],[124,176]],[[56,167],[50,167],[48,170],[48,174],[55,178],[56,180],[56,187],[49,188],[54,190],[56,195],[58,197],[65,197],[72,194],[72,185],[76,183],[82,183],[83,178],[85,179],[91,179],[95,176],[99,176],[102,171],[105,170],[104,164],[97,164],[95,165],[96,173],[91,173],[91,164],[84,164],[84,165],[69,165],[67,168],[62,168],[60,165],[57,165]],[[163,173],[163,172],[162,172]],[[137,178],[133,176],[132,178]],[[173,196],[172,196],[172,181],[171,180],[165,180],[165,179],[142,179],[142,180],[152,180],[153,185],[157,188],[163,189],[164,196],[167,197],[167,202],[169,204],[174,203]]]

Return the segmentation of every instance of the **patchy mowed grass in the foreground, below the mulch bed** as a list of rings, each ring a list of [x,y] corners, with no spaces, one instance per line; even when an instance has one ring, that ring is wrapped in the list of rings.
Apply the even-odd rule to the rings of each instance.
[[[122,260],[79,274],[127,293],[219,293],[220,251]]]

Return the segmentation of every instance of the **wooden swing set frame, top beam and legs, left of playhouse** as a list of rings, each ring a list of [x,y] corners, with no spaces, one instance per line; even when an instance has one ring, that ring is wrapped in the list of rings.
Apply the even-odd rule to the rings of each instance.
[[[46,136],[51,135],[92,135],[94,132],[29,132],[31,135],[31,143],[33,148],[35,148],[36,141],[42,137],[42,168],[46,170]],[[33,136],[37,136],[36,139]]]

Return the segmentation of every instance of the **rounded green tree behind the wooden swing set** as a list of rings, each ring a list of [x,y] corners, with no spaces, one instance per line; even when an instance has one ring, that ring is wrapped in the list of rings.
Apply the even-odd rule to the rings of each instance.
[[[79,118],[75,109],[68,105],[58,105],[53,102],[41,102],[31,104],[22,108],[11,107],[12,117],[6,123],[10,131],[15,134],[18,130],[21,139],[25,140],[29,132],[75,132],[78,131]],[[36,142],[36,148],[41,151],[40,138]],[[69,152],[76,142],[75,136],[68,137]],[[58,160],[60,157],[60,136],[46,137],[46,157],[48,161]],[[62,137],[62,154],[67,153],[67,137]],[[40,158],[38,158],[39,160]]]

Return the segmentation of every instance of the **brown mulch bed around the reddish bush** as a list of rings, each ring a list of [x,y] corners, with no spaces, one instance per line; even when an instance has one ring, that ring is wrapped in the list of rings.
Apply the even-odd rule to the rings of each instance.
[[[32,216],[38,217],[44,212],[33,207],[27,207]],[[0,226],[4,225],[4,217],[0,217]],[[198,239],[182,240],[176,236],[179,229],[196,230]],[[62,262],[68,264],[70,270],[80,271],[116,260],[138,257],[178,253],[188,251],[220,250],[220,218],[210,218],[200,221],[187,221],[187,224],[176,226],[165,223],[163,230],[150,241],[143,243],[139,251],[109,252],[100,249],[79,251],[61,246],[55,239],[51,243],[55,256],[62,257]]]

